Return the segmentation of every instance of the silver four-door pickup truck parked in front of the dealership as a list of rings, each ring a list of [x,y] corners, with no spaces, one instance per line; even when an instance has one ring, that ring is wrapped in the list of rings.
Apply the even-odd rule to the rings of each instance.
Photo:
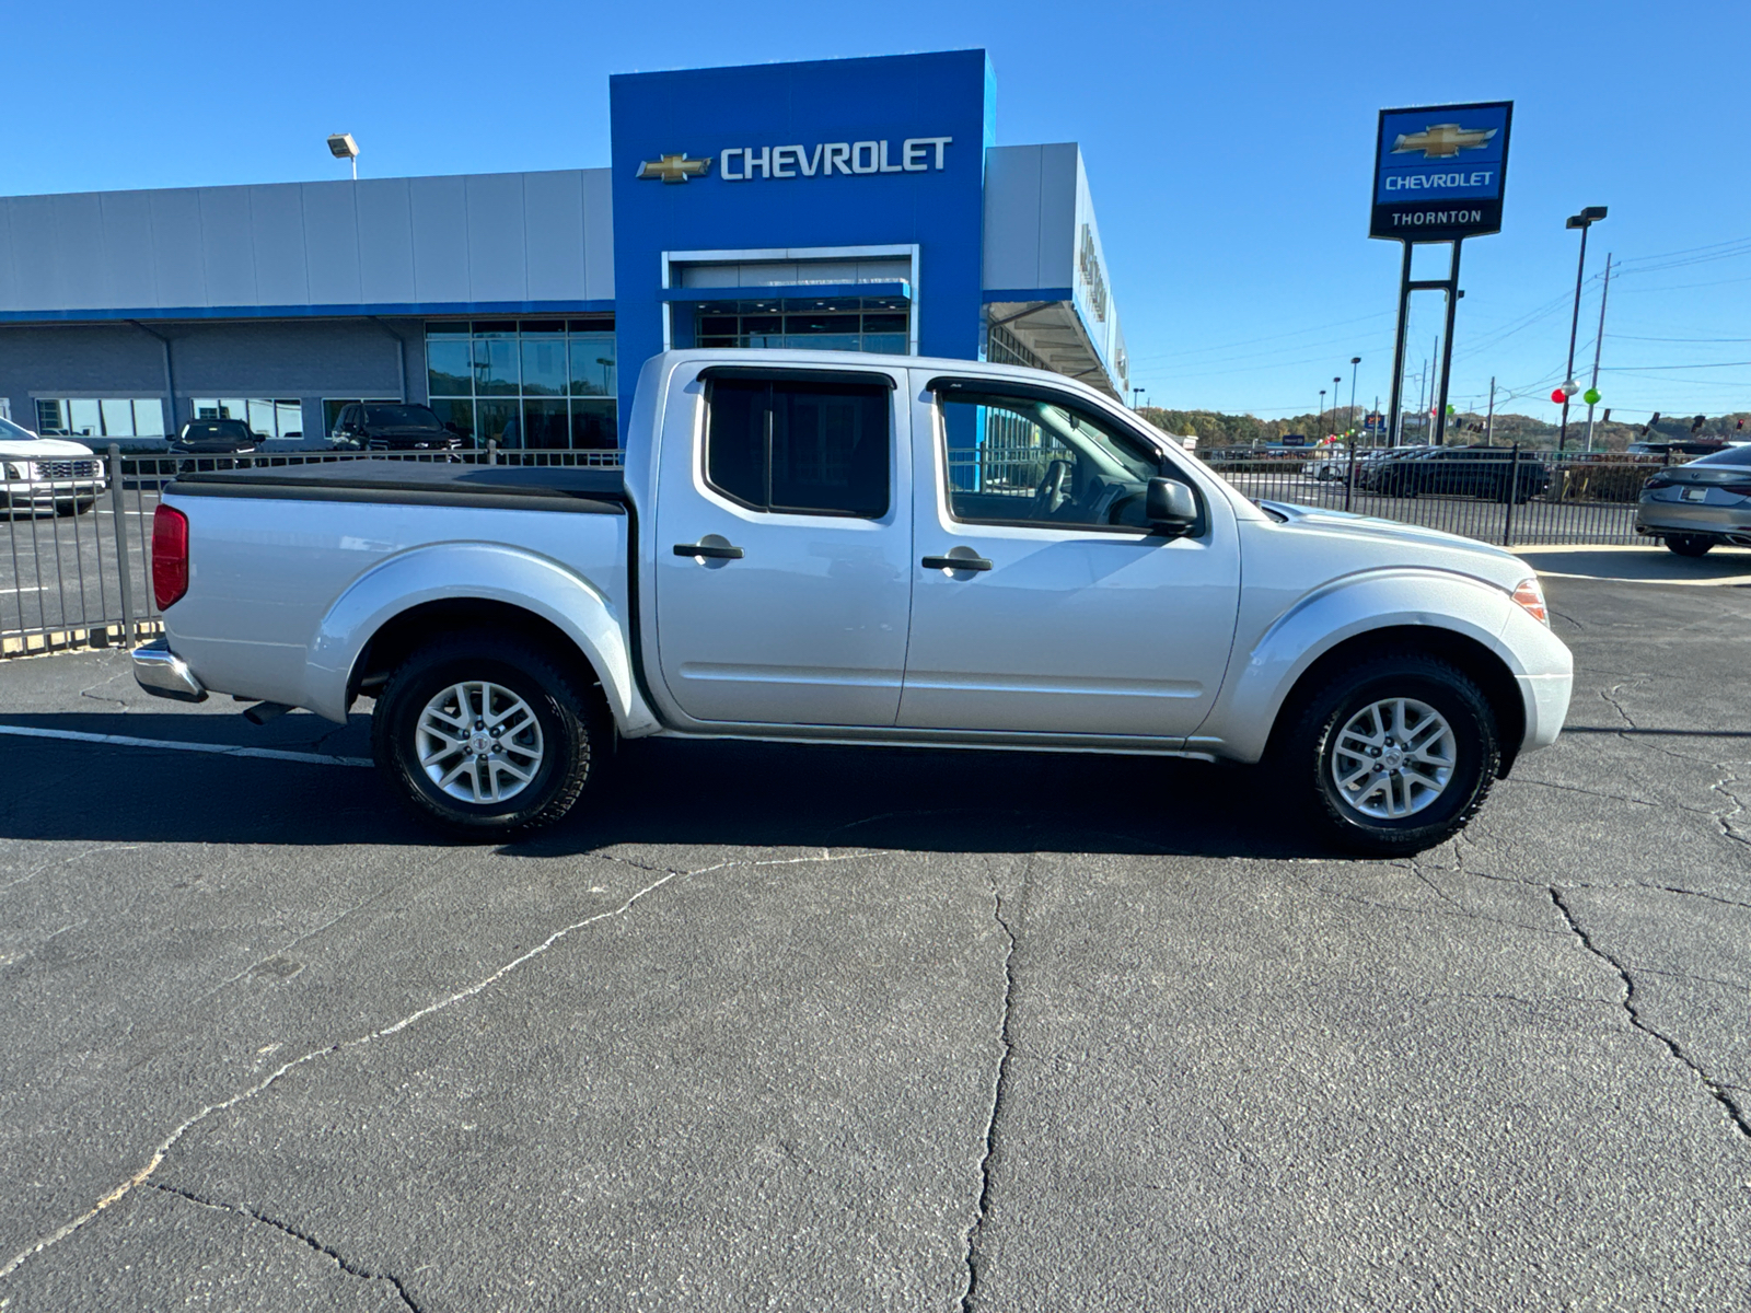
[[[1091,389],[918,357],[653,357],[623,471],[182,478],[154,588],[145,688],[373,697],[396,791],[483,835],[618,734],[1268,762],[1268,816],[1403,853],[1571,688],[1516,557],[1255,506]]]

